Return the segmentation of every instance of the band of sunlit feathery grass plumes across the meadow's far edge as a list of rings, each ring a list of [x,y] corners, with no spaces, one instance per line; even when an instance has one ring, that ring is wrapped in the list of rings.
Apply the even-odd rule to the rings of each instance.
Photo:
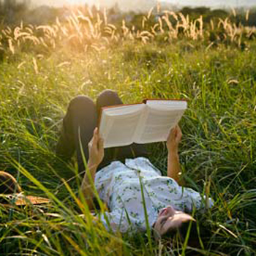
[[[115,26],[108,23],[105,12],[93,14],[85,8],[73,10],[64,20],[56,18],[52,25],[23,25],[21,22],[14,28],[7,26],[0,32],[0,50],[5,56],[31,50],[47,55],[52,50],[63,48],[99,52],[124,40],[171,44],[180,38],[203,42],[208,48],[225,43],[246,49],[255,37],[255,27],[233,23],[229,18],[219,18],[219,22],[211,20],[211,26],[208,26],[203,23],[202,16],[191,20],[189,15],[185,17],[181,12],[165,10],[161,15],[152,15],[150,10],[141,18],[141,24],[127,26],[123,20],[121,26]]]

